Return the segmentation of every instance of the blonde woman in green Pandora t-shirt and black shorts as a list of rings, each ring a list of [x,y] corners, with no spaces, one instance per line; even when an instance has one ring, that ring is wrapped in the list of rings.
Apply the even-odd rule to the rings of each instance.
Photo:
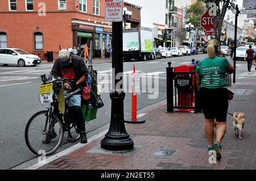
[[[218,50],[216,39],[208,42],[208,58],[198,62],[196,83],[199,87],[199,105],[205,117],[205,134],[208,138],[208,150],[215,150],[217,159],[221,159],[221,142],[226,133],[226,114],[228,111],[228,93],[225,81],[226,73],[232,74],[234,67]],[[220,57],[218,54],[220,54]],[[216,120],[216,141],[214,137],[214,119]]]

